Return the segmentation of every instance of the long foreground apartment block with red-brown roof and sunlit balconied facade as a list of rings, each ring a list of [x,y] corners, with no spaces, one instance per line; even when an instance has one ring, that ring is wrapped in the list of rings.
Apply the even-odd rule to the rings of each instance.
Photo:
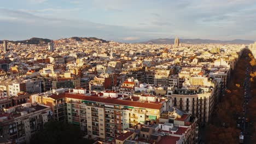
[[[124,129],[137,123],[158,123],[160,114],[172,106],[170,98],[156,98],[153,95],[132,97],[112,91],[86,93],[83,89],[50,95],[49,99],[65,99],[67,121],[79,125],[87,137],[101,140],[118,137]],[[34,101],[40,103],[40,98]]]

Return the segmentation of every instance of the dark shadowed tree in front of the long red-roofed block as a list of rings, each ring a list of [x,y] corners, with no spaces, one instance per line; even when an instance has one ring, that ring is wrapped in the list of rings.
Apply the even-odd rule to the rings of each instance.
[[[44,129],[37,131],[32,136],[31,143],[93,143],[92,140],[83,139],[80,128],[63,122],[48,122],[44,124]]]

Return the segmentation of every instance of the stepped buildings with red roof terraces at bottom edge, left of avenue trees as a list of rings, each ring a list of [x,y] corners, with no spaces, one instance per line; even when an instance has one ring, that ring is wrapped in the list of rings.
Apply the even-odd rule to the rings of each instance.
[[[136,124],[125,129],[115,143],[198,143],[197,119],[175,109],[163,113],[158,124]]]

